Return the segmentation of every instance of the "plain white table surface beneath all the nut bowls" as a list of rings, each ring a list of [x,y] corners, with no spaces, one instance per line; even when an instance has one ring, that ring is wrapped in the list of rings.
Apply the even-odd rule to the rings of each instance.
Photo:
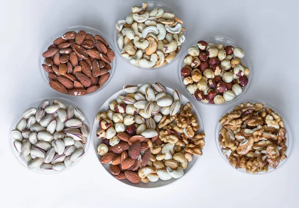
[[[74,168],[54,175],[21,167],[10,151],[8,131],[19,109],[59,94],[41,79],[37,58],[44,41],[71,25],[95,27],[112,40],[111,27],[123,8],[138,0],[6,0],[0,6],[0,207],[64,208],[295,208],[299,206],[299,142],[290,161],[271,174],[246,175],[219,155],[214,128],[226,107],[195,107],[206,133],[203,156],[190,173],[174,184],[138,189],[110,177],[93,147]],[[250,54],[256,74],[243,99],[257,98],[280,107],[299,136],[298,20],[299,0],[168,0],[187,25],[187,44],[202,36],[228,36]],[[159,81],[182,92],[177,62],[163,70],[140,70],[117,56],[118,68],[105,90],[84,99],[92,124],[105,102],[125,84]]]

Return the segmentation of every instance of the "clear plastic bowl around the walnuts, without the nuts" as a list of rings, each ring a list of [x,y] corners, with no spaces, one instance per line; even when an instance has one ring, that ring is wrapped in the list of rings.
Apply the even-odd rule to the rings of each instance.
[[[286,145],[287,145],[287,151],[286,151],[286,155],[288,156],[287,159],[285,159],[284,161],[281,161],[279,163],[279,166],[276,168],[276,169],[273,169],[271,167],[269,167],[268,169],[268,172],[266,173],[271,173],[275,170],[278,170],[280,169],[282,166],[284,166],[287,161],[290,160],[290,157],[293,153],[293,150],[294,150],[294,147],[295,147],[295,131],[294,131],[294,127],[289,119],[289,117],[285,114],[285,112],[283,112],[280,108],[278,107],[275,107],[273,104],[269,103],[269,102],[266,102],[266,101],[263,101],[263,100],[243,100],[243,101],[240,101],[238,103],[234,103],[232,106],[230,106],[228,109],[226,109],[222,115],[219,117],[219,119],[217,120],[217,123],[216,123],[216,127],[215,127],[215,141],[216,141],[216,146],[217,146],[217,149],[220,153],[220,155],[222,156],[222,158],[227,162],[227,164],[229,166],[230,163],[227,159],[227,157],[222,153],[222,150],[221,150],[221,145],[219,143],[219,132],[220,132],[220,129],[222,128],[221,125],[219,124],[219,121],[221,119],[222,116],[224,116],[226,113],[229,113],[231,112],[235,106],[237,105],[240,105],[241,103],[247,103],[247,102],[251,102],[251,103],[263,103],[264,104],[264,107],[269,107],[269,108],[272,108],[275,113],[277,113],[279,116],[281,116],[283,118],[283,121],[284,121],[284,124],[285,124],[285,128],[287,130],[287,134],[286,134],[286,138],[287,138],[287,142],[286,142]],[[231,166],[233,169],[235,170],[239,170],[243,173],[247,173],[246,170],[244,169],[236,169],[235,167]],[[253,173],[247,173],[247,174],[253,174],[253,175],[261,175],[261,174],[266,174],[265,172],[259,172],[258,174],[253,174]]]

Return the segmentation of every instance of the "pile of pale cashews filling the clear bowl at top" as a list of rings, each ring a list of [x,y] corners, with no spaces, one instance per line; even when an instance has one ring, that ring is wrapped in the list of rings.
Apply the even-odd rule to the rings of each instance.
[[[183,21],[162,7],[147,10],[133,6],[126,20],[116,23],[117,45],[121,55],[142,68],[158,68],[171,62],[181,49],[185,36]]]

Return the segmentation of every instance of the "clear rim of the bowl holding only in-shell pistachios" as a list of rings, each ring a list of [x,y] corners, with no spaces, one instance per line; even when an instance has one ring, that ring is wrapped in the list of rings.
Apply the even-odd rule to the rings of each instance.
[[[32,105],[33,103],[38,104],[38,103],[40,103],[40,102],[43,101],[43,100],[64,100],[64,101],[70,102],[74,107],[79,107],[80,110],[81,110],[81,111],[83,112],[83,114],[85,115],[84,123],[88,125],[90,132],[92,132],[92,127],[90,126],[90,123],[89,123],[89,121],[88,121],[88,118],[87,118],[85,112],[84,112],[84,111],[82,110],[82,108],[81,108],[80,106],[78,106],[74,101],[69,100],[69,99],[67,99],[67,98],[63,98],[63,97],[45,97],[45,98],[42,98],[42,99],[35,100],[35,101],[31,102],[30,104],[26,105],[26,106],[23,107],[23,108],[17,113],[17,115],[13,118],[13,120],[12,120],[12,122],[11,122],[11,124],[10,124],[9,133],[8,133],[8,145],[9,145],[9,147],[10,147],[10,151],[11,151],[11,153],[14,155],[15,159],[18,161],[18,163],[19,163],[24,169],[27,169],[27,170],[30,170],[30,171],[32,171],[32,172],[34,172],[34,173],[42,174],[42,175],[59,174],[59,173],[65,172],[65,171],[67,171],[67,170],[73,168],[74,166],[76,166],[76,165],[77,165],[77,164],[78,164],[78,163],[85,157],[86,152],[88,151],[88,149],[89,149],[89,147],[90,147],[90,145],[91,145],[92,139],[91,139],[91,135],[89,135],[89,136],[87,137],[87,139],[88,139],[89,141],[87,140],[87,142],[86,142],[86,145],[85,145],[85,148],[84,148],[84,152],[85,152],[85,153],[84,153],[84,154],[81,156],[81,158],[80,158],[78,161],[76,161],[71,167],[69,167],[69,168],[65,168],[65,169],[62,170],[62,171],[48,171],[48,172],[47,172],[47,171],[42,171],[42,170],[30,169],[30,168],[26,167],[25,164],[23,164],[23,163],[19,160],[19,154],[17,155],[17,154],[14,152],[14,149],[15,149],[15,148],[14,148],[14,145],[13,145],[13,141],[14,141],[14,140],[13,140],[12,137],[11,137],[11,131],[15,129],[15,127],[14,127],[13,124],[16,123],[17,121],[19,121],[19,120],[22,118],[21,115],[24,113],[24,111],[25,111],[26,109],[31,108],[31,107],[32,107],[31,105]],[[51,101],[50,101],[50,102],[51,102]],[[36,106],[35,108],[37,108],[37,106]],[[18,153],[19,153],[19,152],[18,152]]]

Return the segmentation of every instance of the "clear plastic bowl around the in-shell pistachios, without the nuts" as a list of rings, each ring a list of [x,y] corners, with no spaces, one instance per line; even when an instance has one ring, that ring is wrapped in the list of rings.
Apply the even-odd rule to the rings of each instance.
[[[14,117],[11,125],[10,125],[10,129],[9,129],[9,145],[10,145],[10,148],[11,148],[11,151],[13,153],[13,155],[15,156],[15,158],[17,159],[17,161],[22,165],[24,166],[26,169],[29,169],[33,172],[36,172],[36,173],[42,173],[42,174],[55,174],[55,173],[61,173],[63,171],[66,171],[72,167],[74,167],[76,164],[79,163],[79,161],[81,161],[83,159],[83,157],[85,156],[89,146],[90,146],[90,143],[91,143],[91,138],[90,136],[87,138],[87,142],[85,144],[85,148],[84,148],[84,151],[85,153],[81,156],[81,158],[79,160],[77,160],[71,167],[69,168],[65,168],[63,171],[55,171],[55,170],[47,170],[47,171],[42,171],[42,170],[35,170],[35,169],[30,169],[27,167],[27,164],[20,158],[20,153],[15,149],[14,145],[13,145],[13,139],[11,137],[11,131],[15,129],[15,126],[16,124],[19,122],[19,120],[21,120],[22,118],[22,114],[28,109],[28,108],[31,108],[31,107],[37,107],[39,105],[39,103],[43,100],[49,100],[50,103],[52,103],[54,100],[60,100],[62,101],[65,105],[69,106],[69,105],[73,105],[74,107],[78,106],[76,103],[74,103],[73,101],[69,100],[69,99],[66,99],[66,98],[61,98],[61,97],[48,97],[48,98],[43,98],[43,99],[40,99],[40,100],[36,100],[34,101],[33,103],[27,105],[26,107],[24,107],[23,109],[21,109],[19,111],[19,113]],[[78,106],[80,108],[80,106]],[[82,108],[80,108],[80,110],[84,113],[84,111],[82,110]],[[85,115],[85,120],[84,120],[84,123],[88,125],[89,129],[90,129],[90,132],[92,132],[92,129],[90,127],[90,124],[88,122],[88,119],[86,117],[86,114],[84,113]]]

